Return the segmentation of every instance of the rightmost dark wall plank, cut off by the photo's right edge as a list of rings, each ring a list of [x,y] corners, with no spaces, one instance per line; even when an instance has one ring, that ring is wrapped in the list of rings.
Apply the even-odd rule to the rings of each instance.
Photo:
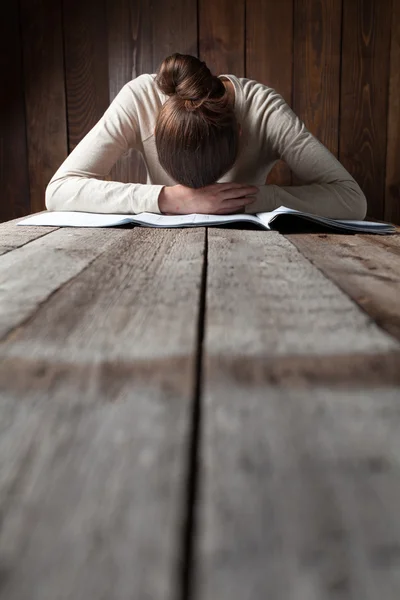
[[[400,0],[393,0],[385,220],[400,224]]]

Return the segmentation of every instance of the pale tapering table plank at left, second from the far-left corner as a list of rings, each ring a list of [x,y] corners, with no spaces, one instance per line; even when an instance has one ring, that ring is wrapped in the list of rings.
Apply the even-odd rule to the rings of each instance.
[[[28,319],[60,286],[126,236],[129,236],[126,230],[64,228],[3,255],[0,340]]]

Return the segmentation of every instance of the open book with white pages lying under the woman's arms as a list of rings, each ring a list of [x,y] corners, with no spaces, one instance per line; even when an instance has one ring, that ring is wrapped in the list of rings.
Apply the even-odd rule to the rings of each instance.
[[[118,215],[86,212],[43,212],[32,215],[18,225],[49,225],[53,227],[115,227],[133,223],[144,227],[200,227],[228,225],[230,223],[251,223],[261,229],[278,231],[334,231],[338,233],[394,233],[396,227],[389,223],[372,221],[350,221],[318,217],[292,208],[280,206],[272,212],[255,215],[177,215],[167,216],[155,213],[138,215]]]

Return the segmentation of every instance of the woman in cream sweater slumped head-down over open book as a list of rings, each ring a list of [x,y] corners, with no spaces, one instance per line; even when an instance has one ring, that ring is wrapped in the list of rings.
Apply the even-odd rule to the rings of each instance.
[[[102,181],[130,148],[147,184]],[[265,185],[283,159],[304,185]],[[233,183],[234,182],[234,183]],[[366,200],[275,90],[174,54],[127,83],[46,190],[49,210],[228,214],[287,206],[363,219]]]

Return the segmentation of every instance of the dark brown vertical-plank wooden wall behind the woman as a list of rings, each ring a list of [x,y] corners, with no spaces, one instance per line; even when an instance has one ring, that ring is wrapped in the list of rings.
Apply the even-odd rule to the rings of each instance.
[[[123,84],[172,52],[275,87],[400,223],[400,0],[19,0],[0,21],[0,220],[52,174]],[[143,180],[137,157],[110,178]],[[281,164],[270,182],[290,183]]]

